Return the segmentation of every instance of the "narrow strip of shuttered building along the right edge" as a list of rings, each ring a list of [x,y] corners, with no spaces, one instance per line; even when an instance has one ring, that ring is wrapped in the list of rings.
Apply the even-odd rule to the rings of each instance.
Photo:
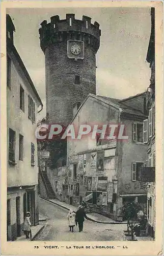
[[[141,180],[148,184],[147,218],[150,234],[155,237],[155,8],[151,8],[151,34],[146,60],[150,63],[151,78],[146,101],[149,115],[148,119],[145,120],[148,150]]]

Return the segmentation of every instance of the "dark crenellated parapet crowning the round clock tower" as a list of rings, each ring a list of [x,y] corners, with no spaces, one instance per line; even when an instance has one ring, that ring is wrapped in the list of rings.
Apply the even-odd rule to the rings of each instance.
[[[91,24],[91,18],[83,16],[82,20],[75,19],[74,14],[66,14],[66,19],[61,19],[59,15],[52,16],[51,22],[47,24],[44,20],[39,29],[40,46],[44,52],[46,47],[66,42],[67,40],[81,40],[85,44],[91,45],[97,52],[100,46],[101,30],[97,22]]]

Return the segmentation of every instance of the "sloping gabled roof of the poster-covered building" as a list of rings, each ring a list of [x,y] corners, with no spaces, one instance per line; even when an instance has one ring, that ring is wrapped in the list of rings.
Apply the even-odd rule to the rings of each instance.
[[[127,105],[121,103],[120,99],[110,98],[110,97],[101,96],[101,95],[94,95],[94,94],[90,93],[87,96],[87,98],[84,100],[84,102],[80,105],[78,111],[76,112],[75,116],[73,117],[73,119],[70,123],[73,122],[73,120],[77,116],[77,113],[80,111],[81,108],[83,108],[83,105],[85,104],[85,102],[91,97],[98,101],[102,101],[103,103],[113,106],[114,108],[121,111],[121,113],[130,114],[130,115],[134,115],[134,116],[140,116],[140,117],[146,117],[141,111],[135,110],[135,109],[131,108],[130,106],[127,106]]]

